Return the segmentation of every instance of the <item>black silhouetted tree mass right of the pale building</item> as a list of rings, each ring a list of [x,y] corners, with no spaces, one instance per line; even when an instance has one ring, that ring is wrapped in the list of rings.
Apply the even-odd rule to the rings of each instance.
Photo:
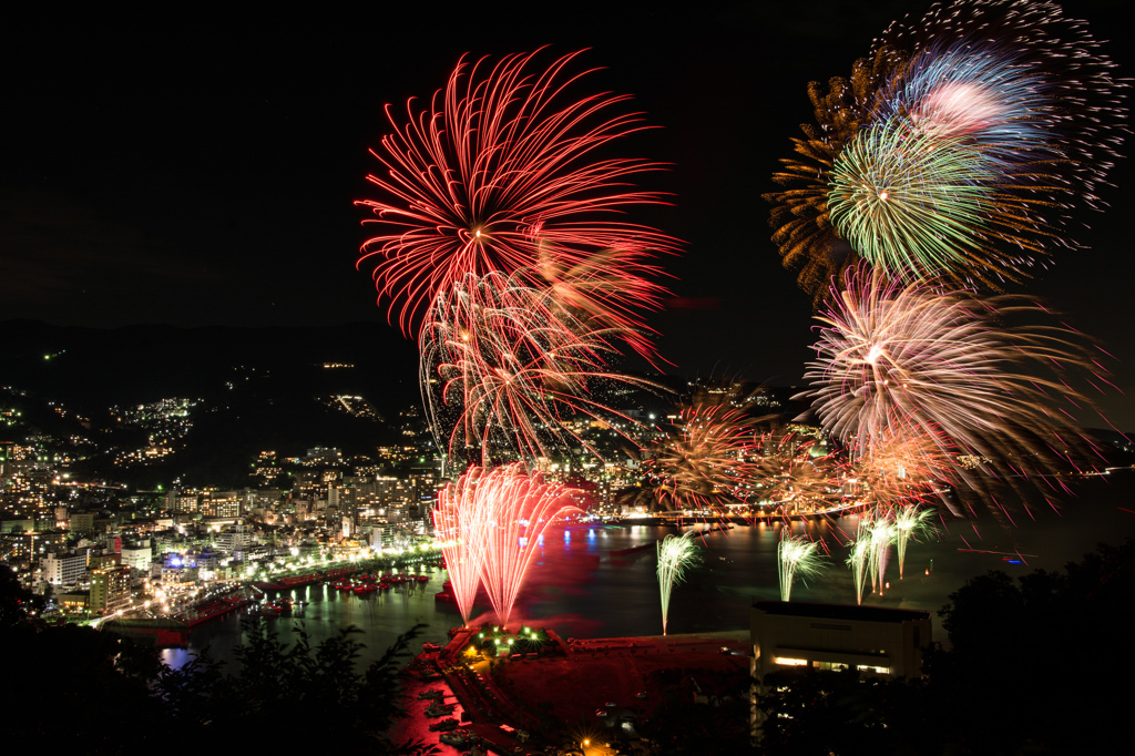
[[[952,649],[931,655],[932,704],[974,753],[1103,753],[1117,742],[1135,541],[1101,544],[1062,573],[974,578],[941,615]]]

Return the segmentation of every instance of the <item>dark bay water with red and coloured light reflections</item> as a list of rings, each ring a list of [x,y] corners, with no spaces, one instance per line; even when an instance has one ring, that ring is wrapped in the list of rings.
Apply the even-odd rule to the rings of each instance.
[[[829,568],[809,585],[797,583],[792,599],[855,603],[851,572],[844,565],[847,548],[841,545],[849,540],[842,534],[855,531],[855,518],[834,523],[735,527],[698,539],[701,562],[673,589],[669,631],[748,628],[754,600],[780,598],[776,544],[783,527],[821,538],[831,548]],[[654,544],[672,532],[673,528],[647,526],[549,529],[536,545],[536,564],[521,589],[513,620],[554,628],[563,637],[661,635],[654,549],[629,556],[612,553]],[[864,604],[936,612],[973,576],[998,569],[1016,576],[1039,568],[1060,570],[1098,543],[1117,545],[1132,536],[1135,536],[1135,476],[1125,471],[1079,481],[1076,496],[1069,497],[1059,513],[1037,510],[1033,518],[1017,518],[1011,529],[1002,528],[992,518],[977,526],[962,521],[951,521],[948,529],[940,526],[936,538],[909,547],[905,579],[899,580],[892,557],[886,573],[890,589],[881,596],[865,596]],[[1016,558],[1017,553],[1025,563],[1004,561]],[[356,638],[367,646],[363,662],[381,656],[400,633],[421,622],[427,628],[412,646],[417,652],[426,640],[445,642],[446,630],[461,623],[455,606],[434,599],[444,581],[445,573],[435,571],[427,583],[379,591],[365,598],[339,594],[327,586],[312,586],[292,594],[310,602],[304,619],[279,618],[268,622],[285,642],[294,639],[301,623],[313,642],[354,624],[362,631]],[[488,602],[479,600],[471,620],[491,619]],[[936,621],[934,632],[936,640],[945,639]],[[209,647],[215,657],[232,661],[239,642],[241,619],[230,615],[194,630],[188,650],[169,649],[163,656],[167,663],[178,666],[190,654]]]

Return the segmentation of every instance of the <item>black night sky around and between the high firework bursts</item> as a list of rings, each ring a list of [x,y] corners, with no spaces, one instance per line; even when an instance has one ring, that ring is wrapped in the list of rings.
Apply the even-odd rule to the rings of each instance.
[[[768,207],[776,159],[810,120],[805,86],[847,75],[874,35],[925,0],[502,6],[367,3],[209,15],[11,16],[0,28],[0,321],[117,327],[385,322],[354,262],[378,170],[367,149],[444,86],[463,52],[588,48],[596,90],[629,93],[659,128],[625,157],[667,162],[640,185],[673,207],[636,219],[684,242],[665,260],[675,299],[650,318],[686,375],[799,383],[809,299],[780,264]],[[539,9],[536,9],[539,7]],[[1067,3],[1125,40],[1121,2]],[[1135,75],[1128,50],[1107,48]],[[1128,149],[1129,153],[1129,149]],[[1101,405],[1135,430],[1132,161],[1111,209],[1084,215],[1088,249],[1061,251],[1035,294],[1117,358]],[[415,364],[405,366],[407,376]],[[1102,423],[1099,423],[1102,425]]]

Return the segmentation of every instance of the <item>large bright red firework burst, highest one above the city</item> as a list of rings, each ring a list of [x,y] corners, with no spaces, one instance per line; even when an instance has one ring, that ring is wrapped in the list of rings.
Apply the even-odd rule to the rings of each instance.
[[[615,115],[625,96],[573,99],[586,77],[568,73],[578,54],[546,70],[537,53],[495,66],[462,59],[428,108],[411,101],[404,119],[387,108],[394,133],[372,151],[386,171],[368,176],[381,196],[358,202],[373,211],[364,222],[377,235],[359,264],[373,264],[380,299],[404,333],[465,276],[521,272],[533,287],[570,294],[577,311],[629,324],[620,331],[628,344],[654,356],[639,313],[666,294],[650,280],[651,260],[676,242],[614,218],[662,203],[630,185],[661,166],[599,157],[646,127],[637,114]],[[605,264],[609,259],[617,266]]]

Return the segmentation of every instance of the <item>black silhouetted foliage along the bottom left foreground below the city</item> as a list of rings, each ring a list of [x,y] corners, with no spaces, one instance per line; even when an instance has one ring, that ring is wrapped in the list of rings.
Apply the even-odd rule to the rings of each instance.
[[[405,715],[400,671],[420,625],[362,670],[354,627],[316,646],[301,628],[289,648],[263,621],[245,625],[233,671],[208,649],[173,669],[154,648],[114,632],[32,624],[10,593],[0,593],[9,746],[135,754],[168,748],[171,732],[192,732],[201,742],[262,748],[266,738],[296,728],[304,741],[323,737],[368,754],[435,750],[390,736]]]

